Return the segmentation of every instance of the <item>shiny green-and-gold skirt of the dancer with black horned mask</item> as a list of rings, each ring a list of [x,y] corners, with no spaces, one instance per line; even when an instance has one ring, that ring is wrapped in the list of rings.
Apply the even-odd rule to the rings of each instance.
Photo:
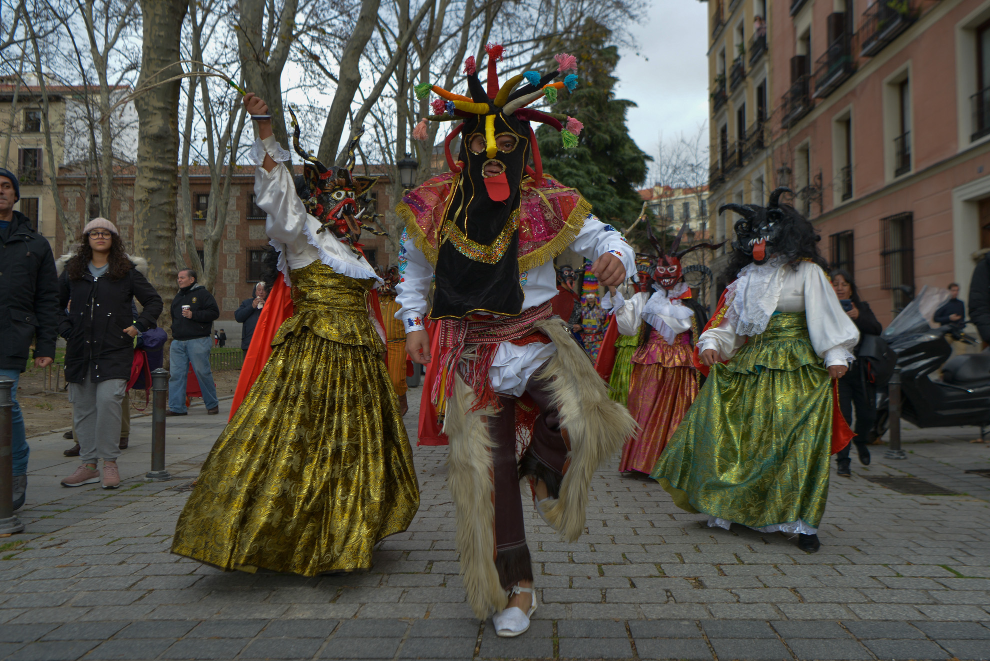
[[[687,511],[753,528],[817,528],[829,496],[832,397],[804,312],[775,314],[712,368],[650,477]]]

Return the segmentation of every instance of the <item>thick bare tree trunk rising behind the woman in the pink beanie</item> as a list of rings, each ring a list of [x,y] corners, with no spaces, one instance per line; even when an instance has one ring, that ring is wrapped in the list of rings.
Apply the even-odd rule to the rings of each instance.
[[[141,0],[143,43],[138,87],[151,76],[181,72],[177,63],[186,0]],[[167,69],[167,70],[165,70]],[[171,328],[168,310],[175,296],[175,194],[178,174],[180,82],[148,89],[135,100],[138,110],[138,172],[134,186],[136,253],[148,260],[148,279],[164,299],[158,324]],[[167,354],[166,354],[167,356]]]

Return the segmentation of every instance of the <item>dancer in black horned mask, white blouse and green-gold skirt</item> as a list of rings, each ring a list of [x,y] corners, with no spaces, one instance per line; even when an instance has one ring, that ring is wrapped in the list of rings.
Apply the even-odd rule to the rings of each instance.
[[[784,191],[765,208],[719,210],[743,216],[727,272],[738,278],[698,340],[708,380],[650,477],[710,526],[796,533],[814,552],[834,431],[848,441],[841,415],[834,421],[834,380],[859,332],[823,271],[814,227],[778,205]]]

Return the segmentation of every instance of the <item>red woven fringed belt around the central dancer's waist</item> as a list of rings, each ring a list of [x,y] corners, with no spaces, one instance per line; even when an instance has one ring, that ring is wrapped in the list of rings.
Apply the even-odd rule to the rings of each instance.
[[[530,344],[549,342],[549,338],[536,330],[537,322],[553,316],[549,301],[524,310],[517,317],[470,315],[463,319],[442,319],[440,322],[440,370],[433,383],[431,394],[440,409],[442,399],[453,394],[453,371],[456,369],[474,390],[472,411],[488,406],[500,407],[498,395],[488,379],[488,370],[495,360],[498,345],[502,342]],[[465,355],[465,347],[471,350]],[[461,358],[464,358],[461,362]]]

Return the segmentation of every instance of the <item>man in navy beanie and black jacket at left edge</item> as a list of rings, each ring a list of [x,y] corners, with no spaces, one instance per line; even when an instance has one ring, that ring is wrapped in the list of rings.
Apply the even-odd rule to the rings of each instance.
[[[0,168],[0,377],[14,382],[14,509],[24,504],[30,448],[17,383],[27,369],[31,345],[35,367],[51,365],[55,356],[58,279],[48,240],[14,204],[21,198],[17,176]]]

